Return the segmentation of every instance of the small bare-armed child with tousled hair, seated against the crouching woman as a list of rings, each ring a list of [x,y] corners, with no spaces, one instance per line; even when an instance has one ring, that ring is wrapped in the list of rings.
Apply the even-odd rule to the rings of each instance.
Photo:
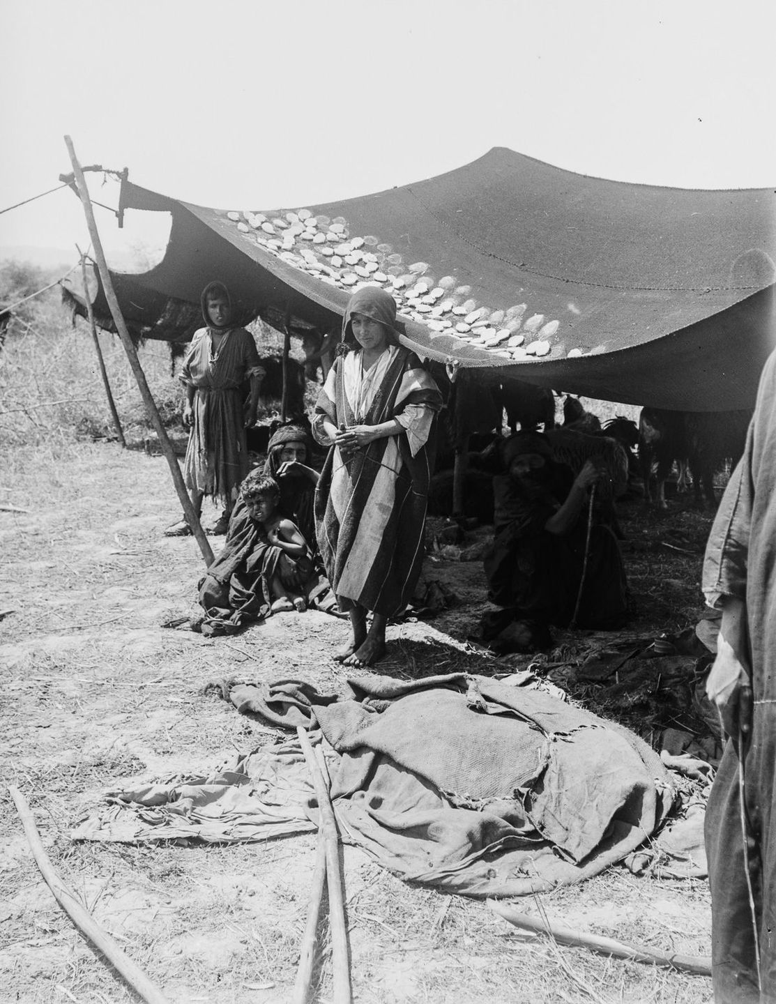
[[[250,481],[250,485],[247,482]],[[276,563],[269,576],[267,585],[271,597],[271,610],[279,613],[282,610],[297,609],[300,613],[307,609],[304,596],[297,591],[301,585],[298,567],[300,561],[310,560],[310,548],[299,532],[299,528],[290,519],[281,516],[277,509],[280,502],[280,486],[274,478],[267,474],[246,478],[241,489],[241,497],[245,502],[248,515],[256,523],[261,524],[267,535],[267,540],[290,559],[291,568],[282,575],[279,563]],[[291,572],[289,574],[289,572]],[[283,581],[286,579],[286,583]]]

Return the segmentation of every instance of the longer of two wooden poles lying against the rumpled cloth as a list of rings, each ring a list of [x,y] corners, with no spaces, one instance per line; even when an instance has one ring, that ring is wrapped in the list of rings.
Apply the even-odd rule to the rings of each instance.
[[[296,734],[304,753],[318,800],[318,825],[323,830],[326,846],[326,885],[328,888],[329,925],[331,928],[331,968],[334,976],[334,1004],[350,1004],[350,959],[347,950],[345,903],[339,869],[339,834],[328,786],[312,752],[307,733],[301,726]]]

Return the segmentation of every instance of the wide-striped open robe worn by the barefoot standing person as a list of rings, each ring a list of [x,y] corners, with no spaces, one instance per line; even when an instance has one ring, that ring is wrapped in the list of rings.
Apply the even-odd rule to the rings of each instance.
[[[340,607],[358,603],[392,616],[409,602],[421,572],[433,418],[442,398],[414,352],[397,346],[385,351],[384,373],[371,394],[361,397],[361,415],[355,414],[352,392],[361,353],[335,360],[318,397],[313,432],[328,444],[321,436],[324,417],[337,428],[397,419],[405,431],[346,456],[336,446],[329,449],[315,493],[315,523]]]

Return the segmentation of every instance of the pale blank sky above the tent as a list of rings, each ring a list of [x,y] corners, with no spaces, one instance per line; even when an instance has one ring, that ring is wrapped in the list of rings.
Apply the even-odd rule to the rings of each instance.
[[[295,208],[503,146],[583,174],[776,185],[773,0],[0,0],[0,209],[70,163],[224,209]],[[111,187],[92,196],[115,201]],[[100,195],[100,192],[102,193]],[[163,235],[133,214],[109,249]],[[7,245],[87,244],[63,190]]]

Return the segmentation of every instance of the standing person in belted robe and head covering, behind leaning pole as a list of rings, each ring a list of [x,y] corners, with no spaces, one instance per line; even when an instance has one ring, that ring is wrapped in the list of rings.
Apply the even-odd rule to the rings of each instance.
[[[186,388],[184,425],[190,429],[184,480],[197,516],[205,495],[224,511],[211,533],[226,533],[241,482],[248,474],[245,430],[256,423],[259,389],[266,371],[259,365],[253,336],[232,321],[229,291],[211,282],[202,291],[206,327],[194,332],[181,383]],[[248,400],[244,385],[250,382]],[[186,518],[165,530],[169,537],[192,532]]]

